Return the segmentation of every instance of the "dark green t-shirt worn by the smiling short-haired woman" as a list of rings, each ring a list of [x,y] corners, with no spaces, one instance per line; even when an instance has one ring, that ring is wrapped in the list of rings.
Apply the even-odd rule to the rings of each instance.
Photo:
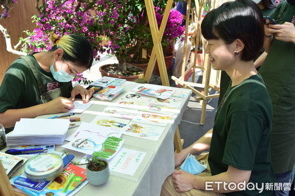
[[[231,82],[230,82],[231,85]],[[240,84],[228,86],[215,116],[208,157],[212,175],[226,172],[229,166],[252,171],[249,182],[270,183],[275,175],[270,163],[271,103],[259,74]],[[268,196],[264,191],[260,195]],[[258,191],[227,193],[229,196],[254,196]]]

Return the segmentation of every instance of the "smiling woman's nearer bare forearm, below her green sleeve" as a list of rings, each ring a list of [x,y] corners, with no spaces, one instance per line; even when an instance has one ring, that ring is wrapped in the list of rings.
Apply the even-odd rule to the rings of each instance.
[[[248,183],[252,171],[238,170],[229,166],[227,172],[219,173],[212,176],[195,176],[194,187],[195,189],[211,190],[218,193],[230,193],[240,191],[236,186],[235,190],[230,190],[228,184],[233,182],[236,185],[239,183]],[[207,182],[207,187],[206,187]],[[222,183],[220,183],[222,182]],[[227,183],[227,184],[226,184]]]

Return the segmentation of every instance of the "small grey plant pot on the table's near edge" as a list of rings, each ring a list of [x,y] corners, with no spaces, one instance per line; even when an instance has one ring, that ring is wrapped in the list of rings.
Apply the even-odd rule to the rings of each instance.
[[[106,183],[110,177],[110,168],[108,161],[103,158],[101,158],[100,160],[104,162],[105,165],[99,167],[97,169],[98,171],[92,171],[93,168],[91,168],[89,164],[86,166],[86,178],[92,185],[102,185]]]

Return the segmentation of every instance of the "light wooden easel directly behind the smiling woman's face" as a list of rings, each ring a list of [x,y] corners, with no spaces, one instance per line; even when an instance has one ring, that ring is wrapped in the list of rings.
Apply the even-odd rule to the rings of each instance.
[[[220,0],[212,0],[211,2],[211,8],[210,10],[216,8],[219,6]],[[219,94],[213,94],[209,95],[209,88],[213,88],[216,91],[220,91],[219,89],[219,79],[220,78],[220,73],[217,72],[215,74],[215,78],[211,78],[211,81],[213,80],[214,83],[210,83],[210,77],[211,77],[211,64],[209,63],[208,60],[208,54],[205,53],[206,51],[206,40],[201,36],[201,24],[202,24],[202,14],[204,12],[205,5],[207,3],[207,0],[200,0],[200,3],[198,0],[195,0],[196,3],[196,10],[198,10],[198,21],[197,21],[197,28],[195,29],[195,55],[194,55],[194,61],[191,63],[189,68],[185,70],[186,68],[186,55],[183,55],[182,57],[182,70],[181,70],[181,77],[177,78],[175,76],[172,76],[172,79],[176,81],[176,83],[180,84],[183,88],[188,88],[193,91],[197,95],[196,100],[200,100],[200,104],[202,105],[201,109],[201,121],[200,124],[203,125],[205,123],[205,117],[206,117],[206,107],[207,107],[207,100],[211,98],[218,98]],[[186,51],[187,47],[187,33],[188,33],[188,25],[189,25],[189,13],[190,13],[190,0],[187,1],[187,10],[186,10],[186,23],[185,23],[185,40],[184,40],[184,48],[183,48],[183,53]],[[202,40],[202,45],[203,45],[203,55],[202,59],[198,59],[198,43],[199,40]],[[202,60],[202,65],[198,65],[198,60]],[[186,82],[184,81],[185,75],[193,68],[193,75],[192,75],[192,82]],[[196,68],[202,69],[203,70],[203,81],[202,84],[195,83],[195,71]],[[204,89],[202,92],[196,90],[194,87],[200,87]]]

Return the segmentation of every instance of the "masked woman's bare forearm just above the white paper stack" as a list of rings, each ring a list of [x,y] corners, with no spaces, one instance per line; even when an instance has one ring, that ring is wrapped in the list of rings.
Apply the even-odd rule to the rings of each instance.
[[[0,119],[4,127],[9,128],[14,127],[21,118],[35,118],[43,114],[47,114],[46,105],[39,104],[22,109],[8,109],[0,113]]]

